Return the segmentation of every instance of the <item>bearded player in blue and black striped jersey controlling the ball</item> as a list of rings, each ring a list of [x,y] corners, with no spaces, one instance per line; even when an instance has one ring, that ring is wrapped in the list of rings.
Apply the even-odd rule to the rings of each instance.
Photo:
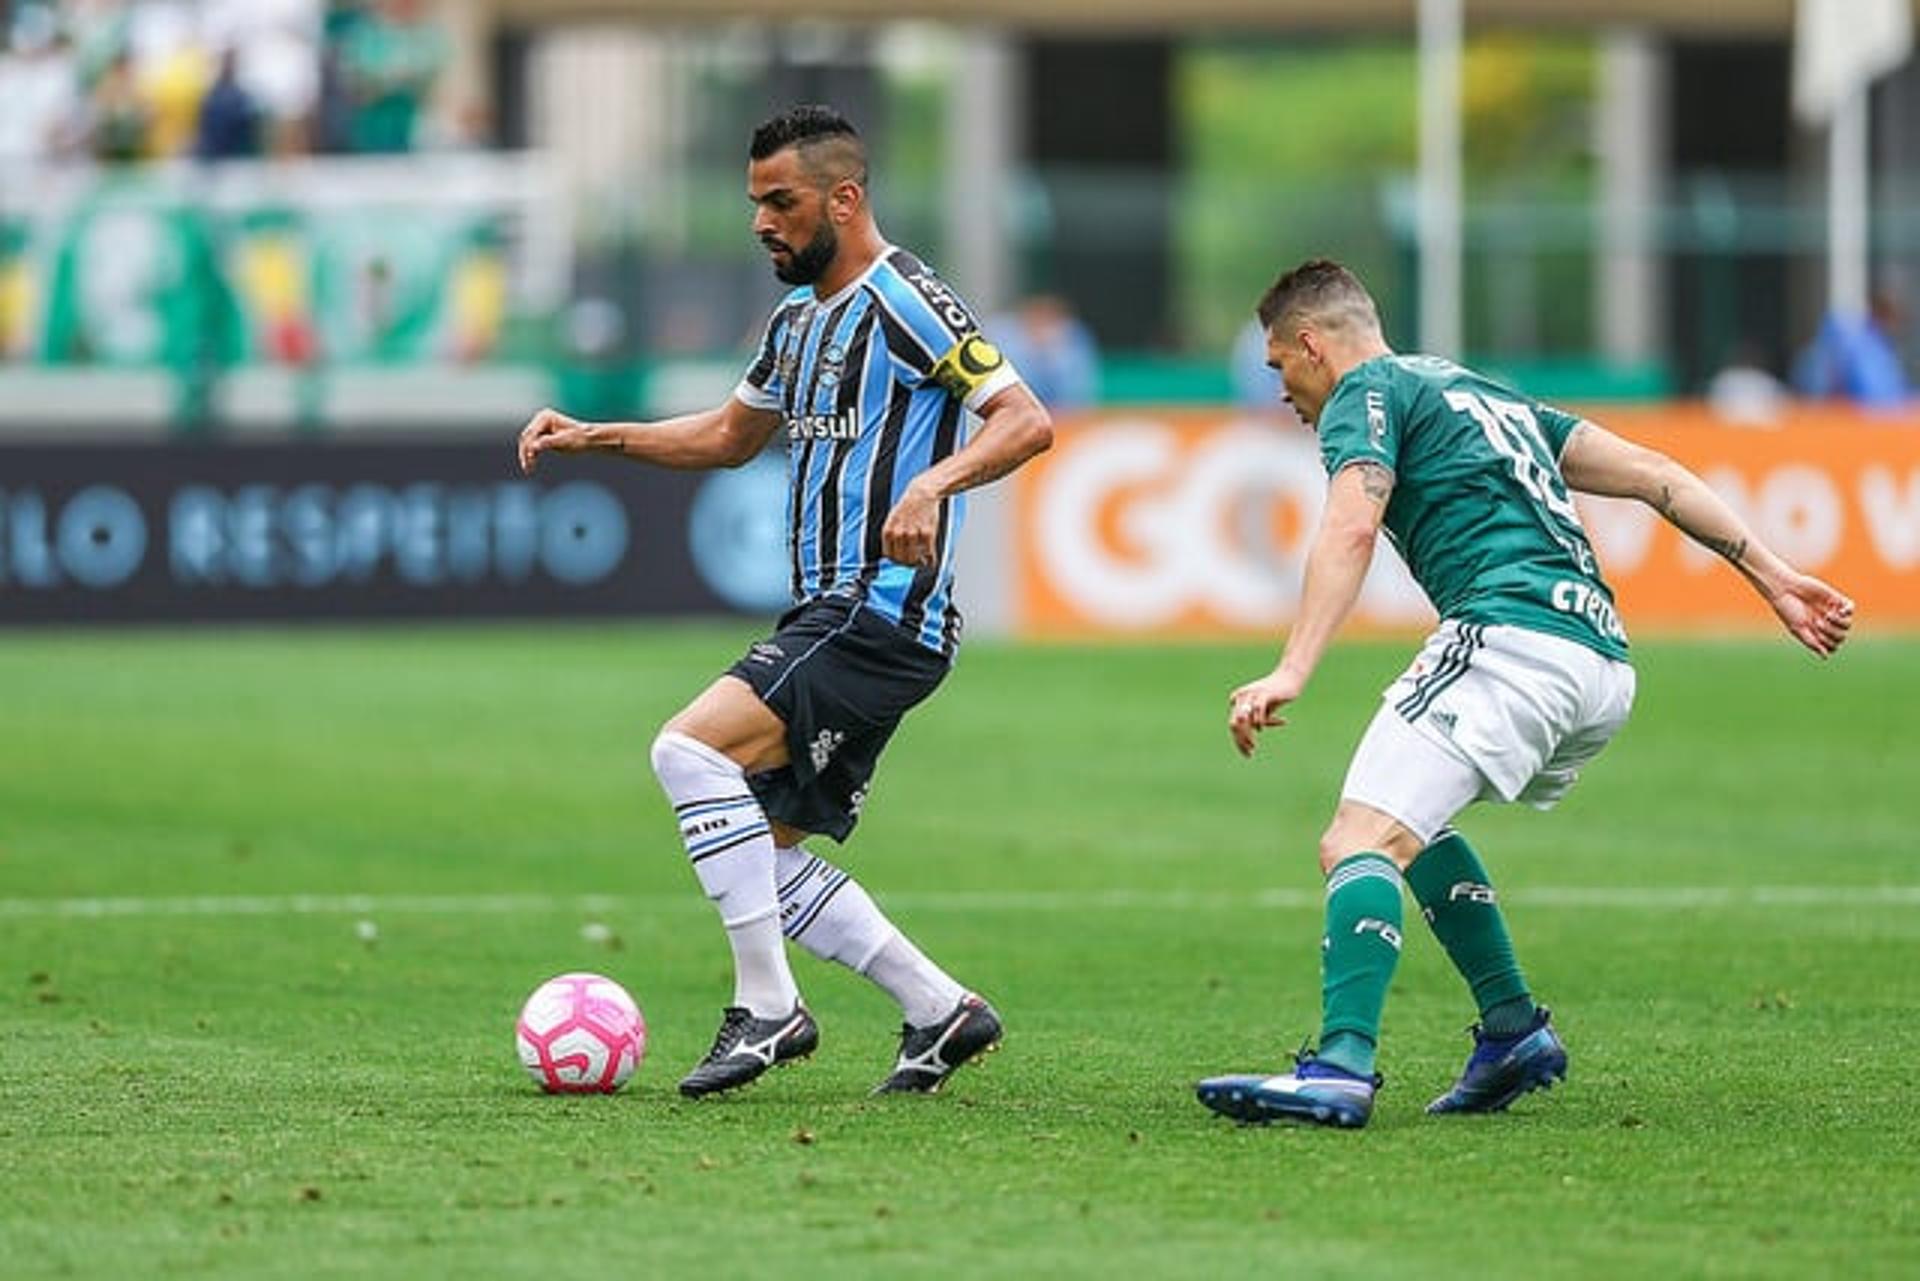
[[[549,451],[737,467],[785,434],[795,605],[653,743],[733,949],[733,1001],[680,1091],[735,1089],[818,1045],[787,968],[793,939],[899,1001],[900,1047],[876,1093],[931,1093],[998,1045],[998,1014],[801,841],[847,839],[893,730],[947,676],[964,495],[1043,451],[1052,424],[960,296],[881,238],[866,146],[837,111],[760,125],[747,196],[774,275],[795,288],[733,396],[660,423],[543,409],[520,432],[520,467]]]

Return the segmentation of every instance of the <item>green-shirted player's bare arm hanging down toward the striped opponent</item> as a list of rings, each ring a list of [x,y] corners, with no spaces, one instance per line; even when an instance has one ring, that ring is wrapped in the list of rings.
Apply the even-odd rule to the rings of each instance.
[[[1254,755],[1261,730],[1286,724],[1281,709],[1306,691],[1321,655],[1359,599],[1392,495],[1394,472],[1380,463],[1352,463],[1329,482],[1327,509],[1308,551],[1300,618],[1286,636],[1281,663],[1227,695],[1227,732],[1242,757]]]

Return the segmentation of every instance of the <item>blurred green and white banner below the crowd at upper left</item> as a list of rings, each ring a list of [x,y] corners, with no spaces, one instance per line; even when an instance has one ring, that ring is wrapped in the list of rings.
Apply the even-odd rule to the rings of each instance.
[[[163,367],[474,363],[509,309],[495,207],[196,202],[104,177],[0,211],[0,361]]]

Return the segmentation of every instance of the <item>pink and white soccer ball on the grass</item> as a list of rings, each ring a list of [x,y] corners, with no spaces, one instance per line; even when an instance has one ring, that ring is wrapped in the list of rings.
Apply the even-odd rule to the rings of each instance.
[[[647,1020],[611,978],[563,974],[526,999],[515,1039],[549,1095],[611,1095],[647,1054]]]

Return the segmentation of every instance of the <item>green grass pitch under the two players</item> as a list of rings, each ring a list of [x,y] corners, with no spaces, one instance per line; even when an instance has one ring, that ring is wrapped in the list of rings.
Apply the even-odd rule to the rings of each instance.
[[[1559,812],[1461,824],[1571,1081],[1421,1114],[1473,1010],[1409,908],[1388,1087],[1323,1133],[1190,1085],[1313,1029],[1313,843],[1409,643],[1338,649],[1254,762],[1265,647],[972,645],[828,853],[1006,1047],[868,1100],[895,1010],[797,956],[820,1054],[687,1104],[726,945],[647,743],[749,636],[0,638],[0,1275],[1920,1271],[1920,643],[1644,645]],[[653,1029],[612,1099],[513,1054],[576,968]]]

